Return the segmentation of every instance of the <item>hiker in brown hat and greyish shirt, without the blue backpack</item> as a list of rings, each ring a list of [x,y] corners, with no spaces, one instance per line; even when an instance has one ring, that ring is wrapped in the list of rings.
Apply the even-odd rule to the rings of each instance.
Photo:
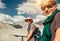
[[[28,26],[28,36],[27,36],[27,39],[26,41],[35,41],[35,37],[33,36],[33,33],[35,31],[35,25],[32,24],[33,23],[33,20],[31,18],[28,18],[28,19],[25,19],[25,22]]]

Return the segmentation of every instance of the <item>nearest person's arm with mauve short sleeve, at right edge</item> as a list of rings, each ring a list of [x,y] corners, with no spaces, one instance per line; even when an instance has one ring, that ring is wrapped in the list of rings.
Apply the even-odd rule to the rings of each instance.
[[[55,16],[56,33],[54,41],[60,41],[60,12]]]

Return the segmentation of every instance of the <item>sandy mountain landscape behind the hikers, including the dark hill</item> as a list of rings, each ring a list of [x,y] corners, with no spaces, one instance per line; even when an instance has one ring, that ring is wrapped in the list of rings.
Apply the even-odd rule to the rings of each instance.
[[[35,24],[42,32],[42,25]],[[24,23],[8,24],[0,22],[0,41],[21,41],[21,36],[27,36],[27,26]],[[23,38],[26,41],[26,37]]]

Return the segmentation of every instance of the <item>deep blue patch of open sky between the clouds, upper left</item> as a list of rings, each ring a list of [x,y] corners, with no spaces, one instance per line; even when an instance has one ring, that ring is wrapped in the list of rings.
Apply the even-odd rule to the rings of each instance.
[[[17,14],[17,10],[15,9],[17,5],[25,2],[25,0],[2,0],[2,2],[6,4],[7,8],[1,9],[1,12],[14,16]]]

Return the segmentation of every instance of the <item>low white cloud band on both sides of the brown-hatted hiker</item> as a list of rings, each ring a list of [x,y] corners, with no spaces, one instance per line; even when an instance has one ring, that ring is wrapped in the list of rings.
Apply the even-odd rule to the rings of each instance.
[[[27,17],[28,18],[28,17]],[[41,14],[38,14],[35,18],[33,18],[34,23],[43,22],[47,17]],[[24,22],[26,18],[22,15],[10,16],[4,13],[0,13],[0,21],[4,23],[14,24],[17,22]]]

